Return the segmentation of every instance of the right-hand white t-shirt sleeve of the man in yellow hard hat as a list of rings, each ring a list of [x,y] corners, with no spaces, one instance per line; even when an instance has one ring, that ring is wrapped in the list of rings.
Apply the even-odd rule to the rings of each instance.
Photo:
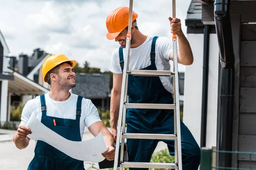
[[[84,114],[85,119],[84,123],[87,127],[92,125],[95,122],[102,121],[99,118],[99,113],[95,105],[93,105],[92,101],[90,99],[84,99]]]

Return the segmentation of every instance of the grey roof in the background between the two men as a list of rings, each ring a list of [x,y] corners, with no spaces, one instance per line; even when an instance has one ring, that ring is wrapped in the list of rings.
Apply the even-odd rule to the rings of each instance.
[[[72,93],[87,99],[108,98],[109,86],[109,74],[77,73],[76,87],[72,88]]]

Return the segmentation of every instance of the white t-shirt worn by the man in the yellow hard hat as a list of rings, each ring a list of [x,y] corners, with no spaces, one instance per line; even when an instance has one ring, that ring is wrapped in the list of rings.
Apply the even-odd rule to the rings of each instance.
[[[76,119],[76,103],[78,95],[70,93],[70,97],[67,100],[61,102],[51,99],[49,93],[45,94],[44,96],[47,116],[53,116],[62,119]],[[40,96],[37,96],[35,99],[31,99],[26,103],[21,114],[20,125],[26,126],[26,123],[28,122],[32,113],[35,113],[37,119],[41,121],[42,111]],[[83,98],[81,103],[80,117],[81,139],[84,134],[85,125],[89,127],[93,123],[99,121],[101,121],[101,119],[99,118],[99,113],[95,105],[93,105],[90,99]]]

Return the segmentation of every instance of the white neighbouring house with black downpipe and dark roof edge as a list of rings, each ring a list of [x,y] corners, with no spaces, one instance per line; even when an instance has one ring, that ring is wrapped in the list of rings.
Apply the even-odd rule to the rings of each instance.
[[[204,25],[201,22],[201,4],[190,3],[185,23],[194,62],[186,66],[185,71],[183,122],[192,132],[199,146],[212,147],[216,146],[217,130],[219,68],[217,35],[214,25]],[[202,115],[203,119],[201,119]],[[204,120],[205,115],[207,120]],[[203,125],[201,125],[202,120]]]

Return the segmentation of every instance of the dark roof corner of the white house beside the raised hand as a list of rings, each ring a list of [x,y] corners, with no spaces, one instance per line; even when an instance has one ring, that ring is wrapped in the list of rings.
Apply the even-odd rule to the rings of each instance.
[[[201,22],[202,6],[201,3],[196,3],[191,0],[185,20],[186,26],[204,26]]]

